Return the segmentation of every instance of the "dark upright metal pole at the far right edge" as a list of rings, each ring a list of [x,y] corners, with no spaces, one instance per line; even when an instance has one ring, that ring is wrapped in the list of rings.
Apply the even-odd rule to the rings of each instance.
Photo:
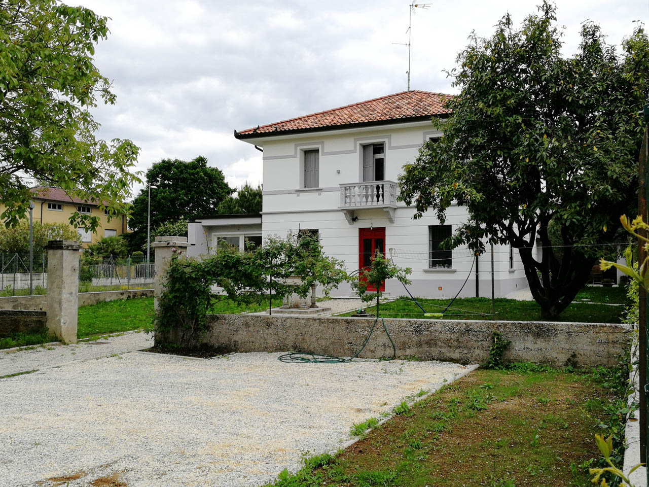
[[[638,164],[639,171],[639,182],[640,188],[638,192],[638,212],[643,217],[644,221],[647,221],[647,201],[649,192],[649,184],[647,184],[648,173],[647,173],[647,129],[644,129],[643,144],[640,149],[640,158]],[[641,231],[644,232],[644,231]],[[646,257],[646,252],[644,251],[643,241],[639,240],[638,242],[638,259],[639,262],[644,262]],[[647,383],[647,360],[646,353],[649,343],[647,342],[647,319],[649,318],[647,314],[647,299],[648,295],[643,286],[639,286],[639,319],[638,319],[638,328],[639,328],[639,355],[640,355],[640,461],[646,463],[646,449],[647,449],[647,401],[646,401],[646,383]],[[647,469],[647,475],[649,477],[649,469]]]

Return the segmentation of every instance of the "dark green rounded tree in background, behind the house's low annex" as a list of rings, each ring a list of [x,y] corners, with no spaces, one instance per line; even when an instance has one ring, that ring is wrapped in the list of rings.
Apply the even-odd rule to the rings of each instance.
[[[151,190],[151,229],[180,219],[193,219],[199,215],[214,215],[219,203],[231,195],[221,169],[207,165],[207,159],[198,156],[185,162],[163,159],[147,171],[147,185]],[[147,243],[147,214],[149,209],[147,187],[133,201],[129,235],[132,249],[141,249]]]

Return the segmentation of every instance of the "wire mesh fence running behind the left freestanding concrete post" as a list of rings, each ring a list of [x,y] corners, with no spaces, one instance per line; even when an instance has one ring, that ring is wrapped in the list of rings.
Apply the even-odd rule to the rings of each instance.
[[[47,294],[47,253],[0,253],[0,297]],[[83,256],[79,262],[79,292],[151,288],[153,260],[139,255],[107,258]]]

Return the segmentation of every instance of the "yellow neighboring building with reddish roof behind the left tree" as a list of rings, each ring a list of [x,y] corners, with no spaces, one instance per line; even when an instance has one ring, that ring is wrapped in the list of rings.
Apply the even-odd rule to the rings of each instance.
[[[84,228],[77,228],[79,240],[84,247],[91,243],[97,243],[102,237],[110,237],[126,233],[127,218],[125,216],[114,216],[108,221],[108,214],[100,210],[99,206],[92,203],[85,203],[80,199],[71,199],[64,190],[50,186],[34,186],[31,188],[34,195],[34,221],[41,223],[69,223],[70,216],[75,211],[79,213],[92,214],[99,218],[99,225],[95,232],[86,231]],[[5,206],[0,204],[0,214]]]

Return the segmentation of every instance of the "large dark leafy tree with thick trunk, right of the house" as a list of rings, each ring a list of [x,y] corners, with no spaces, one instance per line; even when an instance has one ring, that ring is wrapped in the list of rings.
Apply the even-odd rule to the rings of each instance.
[[[649,95],[641,27],[621,55],[589,22],[576,55],[560,49],[547,3],[519,29],[507,15],[491,38],[473,34],[449,73],[460,89],[448,99],[452,114],[433,121],[443,138],[424,145],[400,177],[400,197],[415,205],[415,217],[431,208],[444,221],[451,205],[466,206],[469,223],[449,245],[479,248],[487,240],[519,249],[546,318],[574,299],[598,249],[619,238],[618,216],[633,211],[638,111]],[[548,234],[553,226],[560,253]],[[532,249],[537,238],[541,258]]]

